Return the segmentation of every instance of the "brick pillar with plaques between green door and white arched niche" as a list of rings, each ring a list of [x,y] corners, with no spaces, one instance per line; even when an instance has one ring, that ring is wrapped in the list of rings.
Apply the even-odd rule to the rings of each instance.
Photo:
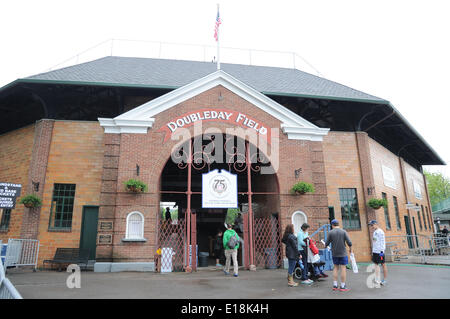
[[[100,208],[98,213],[101,222],[113,222],[113,229],[99,229],[98,236],[111,236],[111,243],[97,242],[96,261],[113,261],[113,232],[117,198],[117,179],[119,172],[120,134],[104,135],[103,174],[100,192]]]

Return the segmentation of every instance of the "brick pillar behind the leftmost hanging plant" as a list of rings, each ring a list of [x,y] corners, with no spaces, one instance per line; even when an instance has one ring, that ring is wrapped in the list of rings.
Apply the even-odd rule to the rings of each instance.
[[[41,199],[44,194],[45,175],[47,173],[54,122],[54,120],[40,120],[36,122],[34,130],[33,151],[31,153],[27,189],[29,190],[29,194],[35,194]],[[40,215],[41,207],[24,209],[20,238],[38,238]]]

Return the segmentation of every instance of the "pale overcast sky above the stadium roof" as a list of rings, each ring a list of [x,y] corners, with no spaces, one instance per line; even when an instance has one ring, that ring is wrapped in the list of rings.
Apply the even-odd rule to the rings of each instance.
[[[217,3],[221,46],[298,53],[325,78],[389,100],[450,163],[448,0],[2,1],[0,87],[111,38],[214,46]],[[113,54],[146,56],[132,44],[126,54],[127,44],[122,52],[114,44]],[[93,58],[109,55],[110,44],[91,51]],[[222,50],[221,60],[231,55]],[[297,67],[314,73],[301,62]],[[447,166],[426,168],[450,177]]]

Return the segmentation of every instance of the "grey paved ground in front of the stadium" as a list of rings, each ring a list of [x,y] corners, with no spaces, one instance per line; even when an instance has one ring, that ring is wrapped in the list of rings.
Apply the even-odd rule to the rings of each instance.
[[[389,265],[388,286],[369,289],[367,265],[347,271],[349,292],[332,291],[332,279],[287,287],[286,270],[242,270],[239,277],[218,270],[196,273],[81,272],[81,288],[69,289],[69,273],[11,270],[8,277],[24,298],[449,298],[450,267]],[[328,272],[331,275],[331,272]]]

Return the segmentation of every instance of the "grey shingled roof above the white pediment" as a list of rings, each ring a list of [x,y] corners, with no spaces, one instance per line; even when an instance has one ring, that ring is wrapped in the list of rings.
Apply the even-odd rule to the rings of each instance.
[[[297,69],[228,63],[221,63],[221,69],[264,94],[387,103]],[[212,62],[109,56],[18,81],[176,89],[215,70]]]

